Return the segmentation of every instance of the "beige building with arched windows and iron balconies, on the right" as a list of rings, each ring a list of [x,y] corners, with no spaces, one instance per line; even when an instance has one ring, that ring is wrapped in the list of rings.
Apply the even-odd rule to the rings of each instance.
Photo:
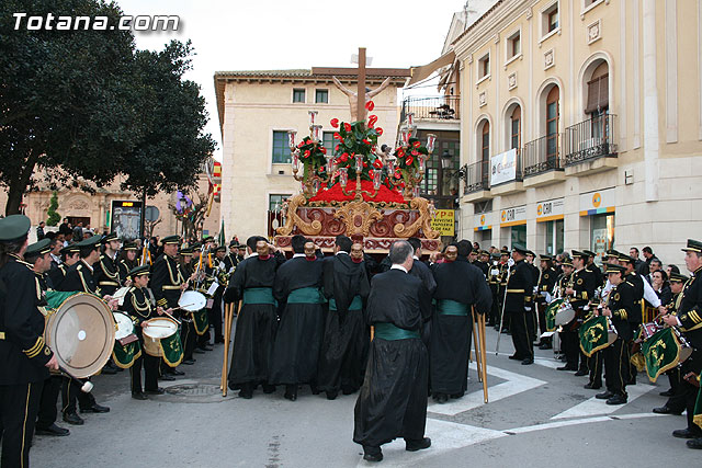
[[[494,2],[442,70],[461,91],[461,237],[682,263],[702,232],[701,27],[697,1]]]

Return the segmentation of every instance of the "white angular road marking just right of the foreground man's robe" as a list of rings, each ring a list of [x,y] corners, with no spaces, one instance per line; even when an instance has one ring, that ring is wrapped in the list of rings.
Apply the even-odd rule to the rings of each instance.
[[[471,363],[471,369],[477,372],[477,365],[475,363]],[[507,380],[488,387],[488,398],[491,403],[546,384],[544,380],[526,377],[524,375],[500,369],[499,367],[490,365],[487,366],[487,373],[491,376]],[[488,378],[488,385],[489,381],[490,380]],[[482,407],[483,404],[485,404],[485,402],[483,400],[483,389],[480,389],[449,403],[440,404],[432,402],[427,407],[427,410],[432,413],[454,416],[458,413]]]

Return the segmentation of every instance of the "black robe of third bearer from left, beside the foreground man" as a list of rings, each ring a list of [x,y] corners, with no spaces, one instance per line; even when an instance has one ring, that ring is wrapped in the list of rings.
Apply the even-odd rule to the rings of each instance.
[[[320,391],[352,393],[363,385],[371,335],[363,307],[349,310],[349,306],[355,296],[362,301],[369,297],[366,265],[342,253],[326,258],[322,272],[325,297],[336,301],[336,310],[327,312],[317,384]]]

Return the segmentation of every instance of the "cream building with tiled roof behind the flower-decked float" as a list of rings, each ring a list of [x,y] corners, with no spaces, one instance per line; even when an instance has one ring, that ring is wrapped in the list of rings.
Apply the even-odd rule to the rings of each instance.
[[[372,99],[375,109],[369,114],[377,115],[376,127],[384,130],[378,146],[393,146],[398,121],[397,88],[406,78],[393,77],[398,70],[375,70],[371,71],[375,75],[366,77],[370,90],[392,77],[389,85]],[[347,89],[356,90],[355,76],[333,76]],[[325,146],[332,151],[336,129],[330,121],[351,121],[349,98],[335,87],[332,75],[316,69],[218,71],[214,81],[223,140],[225,230],[236,233],[240,241],[253,235],[270,236],[282,201],[301,192],[301,183],[293,179],[287,132],[297,132],[296,142],[308,136],[309,111],[316,111]]]

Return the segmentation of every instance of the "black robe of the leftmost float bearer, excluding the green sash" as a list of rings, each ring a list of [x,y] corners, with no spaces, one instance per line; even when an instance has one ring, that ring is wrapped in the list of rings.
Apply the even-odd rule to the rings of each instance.
[[[242,300],[245,290],[249,288],[272,289],[276,270],[278,262],[272,258],[261,260],[254,255],[242,260],[224,293],[224,300]],[[234,333],[229,388],[237,389],[249,383],[268,383],[276,321],[274,304],[241,306]]]

